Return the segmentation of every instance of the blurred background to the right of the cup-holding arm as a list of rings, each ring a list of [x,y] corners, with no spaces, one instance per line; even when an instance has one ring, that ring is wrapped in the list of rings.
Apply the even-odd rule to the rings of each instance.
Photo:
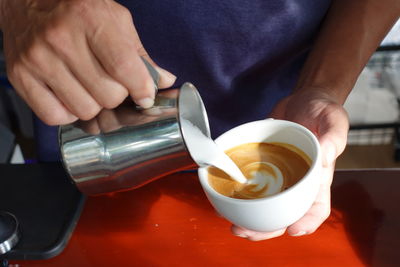
[[[350,132],[336,168],[400,167],[400,20],[372,55],[345,103]]]

